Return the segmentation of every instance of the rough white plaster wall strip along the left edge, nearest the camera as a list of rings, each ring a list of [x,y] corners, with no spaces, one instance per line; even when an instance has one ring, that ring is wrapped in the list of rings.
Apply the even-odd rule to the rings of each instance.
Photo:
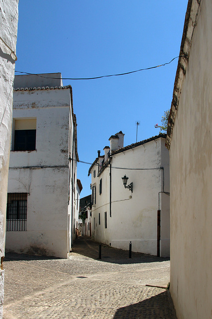
[[[15,52],[18,0],[0,0],[0,37]],[[0,257],[4,256],[5,215],[9,148],[12,123],[12,94],[15,57],[0,39]],[[0,270],[0,318],[2,318],[3,276]]]

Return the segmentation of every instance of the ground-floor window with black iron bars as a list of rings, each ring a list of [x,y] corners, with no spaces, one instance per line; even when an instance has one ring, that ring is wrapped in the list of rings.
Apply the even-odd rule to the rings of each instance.
[[[27,230],[27,193],[8,193],[6,231]]]

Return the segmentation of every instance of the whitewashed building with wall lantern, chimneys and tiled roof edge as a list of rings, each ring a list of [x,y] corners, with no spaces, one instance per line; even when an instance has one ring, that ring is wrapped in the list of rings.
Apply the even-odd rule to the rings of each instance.
[[[169,154],[165,135],[124,147],[111,136],[89,168],[92,237],[112,247],[169,256]],[[123,177],[129,182],[126,188]]]

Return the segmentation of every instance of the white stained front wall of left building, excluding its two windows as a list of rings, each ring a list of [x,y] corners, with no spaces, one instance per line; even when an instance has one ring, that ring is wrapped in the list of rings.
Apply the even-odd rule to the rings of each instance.
[[[8,192],[28,193],[27,231],[7,231],[6,249],[67,258],[68,204],[72,205],[70,89],[14,91],[13,104],[14,120],[36,119],[36,151],[10,154]]]

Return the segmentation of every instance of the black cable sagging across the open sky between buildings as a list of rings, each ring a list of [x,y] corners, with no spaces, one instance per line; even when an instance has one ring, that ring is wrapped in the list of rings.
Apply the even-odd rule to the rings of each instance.
[[[126,74],[131,74],[131,73],[136,73],[136,72],[140,72],[140,71],[145,71],[145,70],[151,70],[151,69],[155,69],[158,68],[160,66],[165,66],[167,64],[170,64],[172,61],[174,61],[177,58],[187,58],[187,55],[180,55],[180,56],[176,56],[175,58],[173,58],[170,62],[166,62],[160,65],[156,65],[156,66],[151,66],[149,68],[144,68],[144,69],[139,69],[139,70],[135,70],[135,71],[130,71],[130,72],[125,72],[125,73],[119,73],[119,74],[110,74],[110,75],[102,75],[102,76],[95,76],[92,78],[61,78],[61,80],[94,80],[94,79],[101,79],[101,78],[107,78],[107,77],[111,77],[111,76],[120,76],[120,75],[126,75]],[[24,73],[24,74],[30,74],[30,75],[37,75],[41,78],[45,78],[45,79],[57,79],[58,78],[53,78],[53,77],[48,77],[48,76],[43,76],[40,74],[36,74],[36,73],[29,73],[29,72],[22,72],[22,71],[15,71],[18,73]]]

